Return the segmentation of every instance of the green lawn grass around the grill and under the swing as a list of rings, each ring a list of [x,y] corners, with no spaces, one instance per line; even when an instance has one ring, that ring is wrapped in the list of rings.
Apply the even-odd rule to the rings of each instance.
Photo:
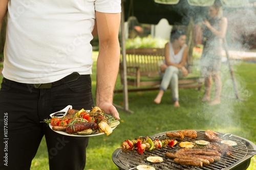
[[[96,56],[97,54],[94,53]],[[96,57],[94,57],[96,60]],[[129,108],[133,114],[119,110],[120,125],[109,136],[101,135],[90,138],[87,148],[87,165],[85,169],[117,170],[112,161],[112,153],[125,139],[179,129],[211,129],[223,133],[238,135],[256,143],[256,63],[234,63],[234,75],[238,83],[239,96],[234,99],[232,81],[227,64],[222,65],[222,103],[218,106],[207,106],[200,100],[202,91],[180,89],[180,108],[172,106],[170,92],[166,91],[160,105],[153,100],[158,91],[129,93]],[[93,67],[93,92],[95,92],[96,68]],[[120,79],[116,83],[120,89]],[[121,93],[114,95],[114,103],[123,104]],[[48,154],[45,139],[32,161],[31,170],[48,169]],[[256,169],[256,158],[251,159],[248,170]]]

